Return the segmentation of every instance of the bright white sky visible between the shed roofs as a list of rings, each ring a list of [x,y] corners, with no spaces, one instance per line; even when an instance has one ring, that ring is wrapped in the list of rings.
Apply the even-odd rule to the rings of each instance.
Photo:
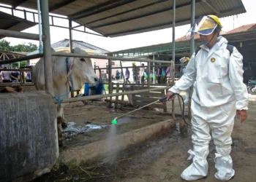
[[[241,25],[247,25],[250,23],[256,23],[256,12],[255,0],[242,0],[246,13],[241,15],[235,15],[231,17],[221,18],[220,21],[223,25],[222,31],[230,31],[233,28],[237,28]],[[10,13],[10,10],[6,11],[0,8],[1,11]],[[30,9],[29,9],[30,10]],[[18,15],[18,12],[15,12]],[[29,17],[28,17],[29,19]],[[59,23],[62,25],[68,25],[67,21],[64,19],[59,19]],[[75,25],[75,24],[73,24]],[[181,36],[184,36],[189,30],[189,25],[183,25],[176,27],[176,39]],[[38,25],[35,25],[32,28],[28,28],[25,31],[26,33],[38,33]],[[89,44],[93,44],[102,49],[108,50],[110,52],[117,50],[126,50],[129,48],[143,47],[152,44],[162,44],[172,41],[172,28],[165,28],[159,31],[151,31],[146,33],[138,33],[129,36],[120,36],[115,38],[94,36],[89,33],[82,33],[78,31],[72,31],[73,39],[79,41],[85,41]],[[7,41],[10,41],[11,45],[22,44],[31,42],[33,44],[39,44],[39,41],[31,41],[26,39],[15,39],[15,38],[5,38]],[[69,39],[69,31],[66,28],[56,28],[50,26],[50,41],[51,44],[61,41],[63,39]]]

